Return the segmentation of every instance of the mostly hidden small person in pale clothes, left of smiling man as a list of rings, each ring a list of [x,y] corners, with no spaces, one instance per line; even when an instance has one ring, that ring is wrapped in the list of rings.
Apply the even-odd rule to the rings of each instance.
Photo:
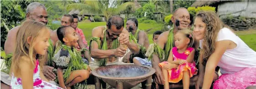
[[[154,34],[153,34],[153,42],[156,43],[157,42],[157,38],[159,37],[159,35],[162,33],[162,31],[156,31]],[[143,59],[141,57],[134,57],[133,58],[133,63],[135,65],[144,65],[144,66],[152,66],[151,64],[151,61],[148,61],[147,60],[147,57],[149,56],[149,54],[151,54],[153,51],[153,46],[154,46],[154,43],[153,44],[150,44],[147,51],[146,51],[146,58]]]

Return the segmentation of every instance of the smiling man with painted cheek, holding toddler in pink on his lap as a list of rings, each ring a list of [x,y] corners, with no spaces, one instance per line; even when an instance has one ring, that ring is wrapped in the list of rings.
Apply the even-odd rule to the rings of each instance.
[[[192,18],[192,17],[191,17]],[[178,8],[174,10],[174,13],[172,15],[171,19],[173,25],[172,28],[164,33],[162,33],[158,39],[157,43],[154,45],[154,51],[152,54],[149,55],[148,59],[152,61],[152,67],[156,70],[156,73],[152,76],[153,80],[156,83],[156,89],[163,89],[163,84],[164,84],[164,79],[162,75],[162,71],[159,67],[159,63],[162,61],[167,61],[169,52],[171,51],[172,47],[174,47],[174,35],[178,32],[178,30],[182,29],[190,29],[191,27],[190,23],[192,22],[190,20],[190,14],[186,8]],[[195,41],[195,48],[196,52],[198,52],[198,47],[199,47],[199,41]],[[195,53],[195,58],[194,60],[198,60],[198,55]],[[171,64],[171,66],[178,66],[176,64]],[[204,70],[203,66],[199,66],[197,68],[199,70]],[[217,68],[218,69],[218,68]],[[217,70],[218,71],[218,70]],[[194,75],[192,78],[190,78],[189,86],[193,87],[195,86],[198,78],[198,75]],[[218,79],[218,73],[214,74],[214,80]],[[200,85],[200,84],[197,84]],[[169,83],[169,88],[174,89],[174,88],[183,88],[182,81],[178,83]]]

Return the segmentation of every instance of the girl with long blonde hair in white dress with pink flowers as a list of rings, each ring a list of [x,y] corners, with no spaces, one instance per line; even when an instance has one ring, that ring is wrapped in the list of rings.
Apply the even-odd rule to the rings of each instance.
[[[11,89],[62,89],[42,74],[42,66],[49,46],[50,31],[41,22],[26,20],[16,36],[11,71]]]

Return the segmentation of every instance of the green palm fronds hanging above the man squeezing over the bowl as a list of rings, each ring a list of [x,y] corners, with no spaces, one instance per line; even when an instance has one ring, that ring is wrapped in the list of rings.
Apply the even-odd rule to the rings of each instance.
[[[85,0],[82,3],[73,3],[67,6],[68,10],[78,9],[80,14],[88,12],[90,14],[103,14],[107,21],[112,15],[120,14],[127,6],[131,5],[133,9],[135,4],[133,2],[122,3],[121,0]]]

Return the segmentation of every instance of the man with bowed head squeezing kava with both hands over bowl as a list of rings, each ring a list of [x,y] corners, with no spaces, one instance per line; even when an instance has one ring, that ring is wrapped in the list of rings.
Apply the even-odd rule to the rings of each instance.
[[[129,40],[129,32],[124,28],[124,19],[120,16],[112,16],[106,26],[94,28],[92,36],[89,49],[94,58],[94,63],[89,64],[92,70],[99,66],[125,64],[118,61],[118,57],[125,55],[127,47],[132,53],[139,52],[136,42]],[[126,48],[123,47],[125,45]]]

